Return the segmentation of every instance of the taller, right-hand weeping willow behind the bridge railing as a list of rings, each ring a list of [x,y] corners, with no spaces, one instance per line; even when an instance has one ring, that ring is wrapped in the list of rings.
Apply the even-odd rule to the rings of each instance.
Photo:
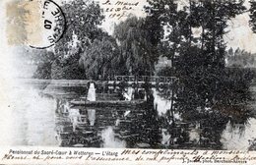
[[[120,44],[119,61],[122,75],[151,75],[158,59],[153,38],[145,19],[130,17],[114,28],[114,37]]]

